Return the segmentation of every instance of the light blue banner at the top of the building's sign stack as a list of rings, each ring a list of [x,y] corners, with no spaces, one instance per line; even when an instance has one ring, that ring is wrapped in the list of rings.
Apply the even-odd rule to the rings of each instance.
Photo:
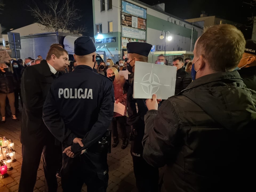
[[[128,13],[137,17],[147,18],[147,9],[134,5],[132,3],[128,3],[126,1],[122,1],[122,12]]]

